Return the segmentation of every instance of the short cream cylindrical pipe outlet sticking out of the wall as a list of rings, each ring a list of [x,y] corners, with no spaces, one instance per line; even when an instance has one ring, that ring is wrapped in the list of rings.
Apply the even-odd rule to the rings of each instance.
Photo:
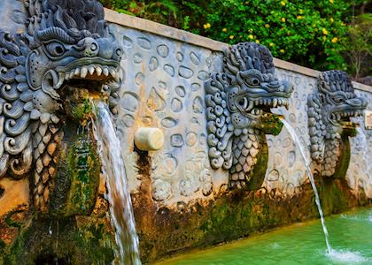
[[[159,150],[164,144],[164,134],[159,128],[139,128],[135,133],[135,144],[143,151]]]

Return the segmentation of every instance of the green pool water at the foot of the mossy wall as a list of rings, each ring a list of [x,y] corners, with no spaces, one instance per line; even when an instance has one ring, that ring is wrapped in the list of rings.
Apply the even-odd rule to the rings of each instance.
[[[372,208],[329,216],[325,222],[330,254],[326,252],[321,221],[314,220],[158,264],[372,264]]]

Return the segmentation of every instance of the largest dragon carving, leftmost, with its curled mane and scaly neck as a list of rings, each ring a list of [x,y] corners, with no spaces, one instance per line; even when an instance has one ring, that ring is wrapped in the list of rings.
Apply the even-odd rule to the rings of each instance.
[[[54,187],[62,117],[94,94],[118,102],[122,49],[97,0],[28,0],[24,34],[0,32],[0,178],[30,178],[35,208]],[[74,91],[74,98],[71,97]]]

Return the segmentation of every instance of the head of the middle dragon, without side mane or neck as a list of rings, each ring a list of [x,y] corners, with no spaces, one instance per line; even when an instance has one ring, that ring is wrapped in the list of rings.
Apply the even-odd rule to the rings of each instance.
[[[269,49],[254,42],[238,43],[224,57],[229,79],[228,107],[236,129],[257,127],[270,108],[288,108],[293,87],[275,76]]]

